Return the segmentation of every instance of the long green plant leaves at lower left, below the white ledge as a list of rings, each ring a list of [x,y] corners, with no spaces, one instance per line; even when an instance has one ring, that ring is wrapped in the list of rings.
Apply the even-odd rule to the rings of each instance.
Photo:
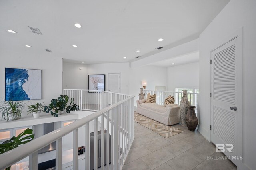
[[[26,135],[26,136],[25,136]],[[23,132],[21,132],[17,137],[13,136],[9,140],[4,141],[2,144],[0,144],[0,154],[3,154],[5,152],[8,152],[9,150],[12,150],[14,148],[17,148],[18,146],[21,146],[23,144],[26,144],[34,139],[33,130],[27,128]],[[10,170],[11,167],[6,168],[6,170]]]

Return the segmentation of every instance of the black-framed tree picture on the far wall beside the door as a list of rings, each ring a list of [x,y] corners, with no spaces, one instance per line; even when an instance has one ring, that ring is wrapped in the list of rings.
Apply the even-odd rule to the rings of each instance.
[[[105,91],[105,75],[88,75],[89,90],[102,90]]]

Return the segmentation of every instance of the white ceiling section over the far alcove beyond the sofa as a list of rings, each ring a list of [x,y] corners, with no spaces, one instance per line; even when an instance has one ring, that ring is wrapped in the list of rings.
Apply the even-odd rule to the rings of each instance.
[[[195,63],[198,61],[199,61],[199,51],[178,56],[178,57],[173,57],[167,60],[158,61],[150,65],[159,66],[159,67],[174,67],[182,64]],[[172,63],[174,63],[174,65]]]

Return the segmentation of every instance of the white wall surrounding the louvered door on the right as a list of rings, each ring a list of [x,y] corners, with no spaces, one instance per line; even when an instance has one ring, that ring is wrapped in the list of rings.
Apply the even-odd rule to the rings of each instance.
[[[243,27],[243,164],[256,169],[255,84],[256,1],[231,0],[200,35],[199,131],[210,137],[210,51],[212,47]],[[247,166],[247,167],[246,167]]]

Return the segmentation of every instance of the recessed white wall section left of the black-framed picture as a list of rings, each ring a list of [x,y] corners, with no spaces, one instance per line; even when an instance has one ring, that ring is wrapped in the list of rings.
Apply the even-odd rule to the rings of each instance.
[[[87,65],[63,62],[63,89],[88,89]]]

